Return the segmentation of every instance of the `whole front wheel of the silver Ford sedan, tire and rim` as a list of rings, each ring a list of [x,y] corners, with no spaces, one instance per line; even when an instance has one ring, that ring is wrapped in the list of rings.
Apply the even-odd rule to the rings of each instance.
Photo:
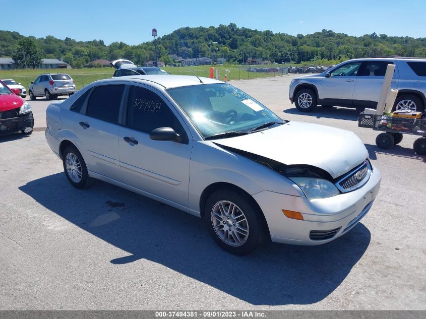
[[[227,213],[229,208],[233,213]],[[204,220],[214,241],[237,255],[251,253],[268,234],[265,217],[254,200],[232,188],[218,189],[210,195],[204,209]]]

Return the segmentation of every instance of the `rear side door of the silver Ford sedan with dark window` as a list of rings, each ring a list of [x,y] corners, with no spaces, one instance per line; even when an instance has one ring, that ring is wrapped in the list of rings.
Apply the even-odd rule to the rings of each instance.
[[[125,85],[116,84],[93,88],[73,128],[87,169],[117,181],[121,181],[117,140],[124,90]]]

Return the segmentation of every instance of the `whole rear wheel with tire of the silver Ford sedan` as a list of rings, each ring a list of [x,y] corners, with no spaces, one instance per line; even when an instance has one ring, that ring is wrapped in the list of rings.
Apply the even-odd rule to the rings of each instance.
[[[78,149],[74,145],[68,146],[62,158],[65,176],[67,176],[71,185],[79,189],[86,188],[89,185],[90,177],[87,172],[86,163]],[[78,166],[78,164],[80,164],[80,166]],[[79,176],[79,172],[81,176]]]

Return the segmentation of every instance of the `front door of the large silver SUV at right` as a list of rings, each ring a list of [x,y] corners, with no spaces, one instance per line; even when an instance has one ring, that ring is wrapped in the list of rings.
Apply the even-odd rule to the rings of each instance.
[[[352,106],[356,72],[360,66],[361,61],[348,62],[331,71],[330,77],[321,81],[318,104]]]

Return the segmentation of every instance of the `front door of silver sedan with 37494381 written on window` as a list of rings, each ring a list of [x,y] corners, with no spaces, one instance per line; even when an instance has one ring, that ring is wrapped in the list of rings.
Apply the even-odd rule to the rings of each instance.
[[[187,208],[193,141],[171,103],[159,94],[140,86],[130,87],[124,108],[127,124],[118,135],[120,169],[126,184]],[[149,133],[158,127],[172,127],[184,141],[151,140]]]

